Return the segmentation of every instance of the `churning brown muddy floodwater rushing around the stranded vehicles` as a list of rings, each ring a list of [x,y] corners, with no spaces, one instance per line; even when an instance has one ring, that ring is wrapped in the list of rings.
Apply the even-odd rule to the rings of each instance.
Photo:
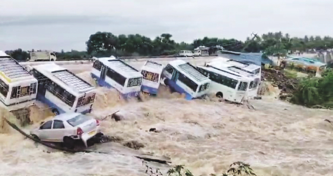
[[[93,84],[88,65],[73,70]],[[92,147],[109,154],[57,152],[1,122],[0,175],[145,175],[142,160],[113,149],[127,141],[144,145],[137,152],[170,157],[195,175],[222,173],[235,161],[251,164],[259,175],[333,175],[333,125],[324,121],[333,121],[332,111],[291,105],[272,95],[250,100],[254,110],[216,98],[188,101],[163,86],[157,97],[140,103],[119,99],[115,90],[98,87],[97,92],[91,115],[101,119],[119,110],[124,117],[101,122],[105,134],[122,139]],[[49,113],[41,107],[33,109],[34,125]]]

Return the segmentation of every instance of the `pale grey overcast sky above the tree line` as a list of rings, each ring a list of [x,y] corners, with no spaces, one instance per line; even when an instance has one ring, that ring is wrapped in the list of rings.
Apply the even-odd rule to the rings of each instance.
[[[177,42],[252,32],[333,36],[333,0],[0,0],[0,50],[85,50],[97,31]]]

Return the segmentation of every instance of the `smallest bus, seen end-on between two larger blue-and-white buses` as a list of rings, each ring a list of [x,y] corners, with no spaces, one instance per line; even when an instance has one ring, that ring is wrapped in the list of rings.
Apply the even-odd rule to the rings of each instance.
[[[150,94],[157,94],[160,85],[161,74],[164,66],[162,64],[146,61],[141,68],[142,85],[141,91]]]

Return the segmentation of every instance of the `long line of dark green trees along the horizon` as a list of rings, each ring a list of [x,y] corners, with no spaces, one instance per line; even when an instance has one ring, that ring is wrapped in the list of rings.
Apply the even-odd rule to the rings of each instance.
[[[329,36],[290,37],[282,32],[269,32],[261,36],[252,34],[245,41],[217,37],[195,39],[192,43],[175,42],[171,34],[161,34],[151,39],[140,34],[114,35],[110,32],[97,32],[86,42],[87,51],[57,52],[59,60],[84,59],[92,56],[161,56],[174,55],[180,50],[191,50],[204,45],[222,46],[225,50],[244,53],[262,52],[266,56],[283,56],[287,53],[311,52],[313,49],[333,48],[333,38]],[[52,49],[52,48],[50,48]],[[26,60],[29,54],[22,49],[6,51],[17,60]]]

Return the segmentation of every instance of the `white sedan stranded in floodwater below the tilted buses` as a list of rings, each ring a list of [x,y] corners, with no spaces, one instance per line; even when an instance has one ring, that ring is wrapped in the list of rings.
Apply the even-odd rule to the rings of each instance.
[[[91,138],[101,138],[99,121],[88,115],[80,113],[64,113],[53,119],[41,123],[39,128],[30,134],[41,141],[63,142],[67,148],[74,148],[75,142],[82,140],[88,147],[87,141]]]

